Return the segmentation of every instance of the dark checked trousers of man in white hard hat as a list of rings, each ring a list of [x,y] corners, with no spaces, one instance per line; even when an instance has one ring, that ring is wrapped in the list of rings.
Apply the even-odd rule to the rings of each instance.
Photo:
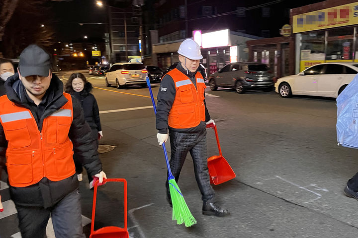
[[[215,202],[215,191],[210,185],[209,170],[206,156],[206,129],[200,132],[169,131],[171,142],[170,167],[178,182],[185,157],[190,152],[194,165],[194,174],[204,202]],[[167,195],[170,197],[168,179]]]

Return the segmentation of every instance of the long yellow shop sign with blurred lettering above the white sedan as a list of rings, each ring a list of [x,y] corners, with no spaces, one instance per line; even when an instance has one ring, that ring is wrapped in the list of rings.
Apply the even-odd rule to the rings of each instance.
[[[358,24],[358,2],[293,16],[293,33]]]

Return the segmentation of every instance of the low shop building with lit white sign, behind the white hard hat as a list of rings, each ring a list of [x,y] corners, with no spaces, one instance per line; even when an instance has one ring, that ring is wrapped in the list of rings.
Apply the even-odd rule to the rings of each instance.
[[[228,29],[204,34],[198,30],[193,32],[193,36],[192,39],[202,48],[203,59],[200,62],[206,67],[208,74],[217,72],[227,63],[247,61],[246,41],[262,38]],[[179,61],[177,51],[183,40],[153,44],[152,58],[158,59],[159,67],[165,69]]]

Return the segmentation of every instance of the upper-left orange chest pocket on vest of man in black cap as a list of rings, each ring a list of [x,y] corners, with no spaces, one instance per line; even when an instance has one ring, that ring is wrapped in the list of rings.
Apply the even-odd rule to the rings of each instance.
[[[27,147],[31,144],[30,133],[27,129],[27,119],[3,123],[6,139],[14,149]]]

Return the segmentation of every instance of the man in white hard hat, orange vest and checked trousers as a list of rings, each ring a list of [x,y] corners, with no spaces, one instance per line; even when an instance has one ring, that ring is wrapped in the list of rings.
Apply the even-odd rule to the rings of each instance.
[[[216,204],[215,192],[210,185],[206,156],[206,124],[210,119],[205,103],[203,76],[198,72],[203,58],[200,46],[191,39],[184,40],[178,50],[179,64],[163,78],[158,92],[156,128],[159,145],[168,139],[171,143],[170,167],[176,181],[188,152],[194,164],[195,179],[199,186],[203,215],[229,214]],[[172,206],[168,180],[167,200]]]

